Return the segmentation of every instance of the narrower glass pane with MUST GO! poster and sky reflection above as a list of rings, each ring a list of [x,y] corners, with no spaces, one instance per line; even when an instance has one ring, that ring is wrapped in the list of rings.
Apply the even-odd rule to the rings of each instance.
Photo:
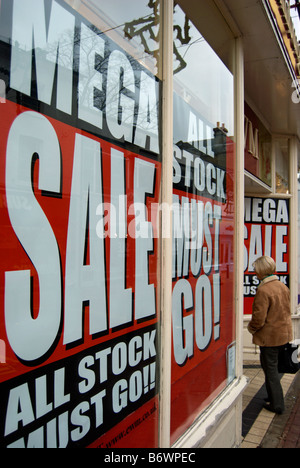
[[[179,6],[174,31],[172,442],[235,376],[233,75]]]

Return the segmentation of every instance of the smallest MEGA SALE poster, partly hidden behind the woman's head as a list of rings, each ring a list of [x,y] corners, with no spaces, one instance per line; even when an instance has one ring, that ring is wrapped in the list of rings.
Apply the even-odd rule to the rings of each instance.
[[[244,244],[244,313],[252,314],[260,283],[253,268],[257,258],[272,257],[276,275],[289,286],[289,201],[246,198]]]

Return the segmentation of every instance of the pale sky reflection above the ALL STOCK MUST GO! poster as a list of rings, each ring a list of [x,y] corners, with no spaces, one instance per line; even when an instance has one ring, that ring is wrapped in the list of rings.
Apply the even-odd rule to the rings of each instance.
[[[234,134],[233,76],[177,6],[174,13],[174,89],[210,122]],[[180,58],[179,58],[180,57]]]

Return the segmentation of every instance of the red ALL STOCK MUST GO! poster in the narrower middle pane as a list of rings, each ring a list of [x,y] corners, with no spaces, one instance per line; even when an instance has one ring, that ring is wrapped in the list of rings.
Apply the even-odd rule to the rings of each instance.
[[[174,102],[172,441],[235,375],[234,143],[220,128],[186,143],[185,125],[209,124]]]

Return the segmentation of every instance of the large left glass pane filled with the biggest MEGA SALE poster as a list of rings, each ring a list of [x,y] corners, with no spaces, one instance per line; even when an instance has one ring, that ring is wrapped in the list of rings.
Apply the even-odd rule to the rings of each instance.
[[[156,447],[158,4],[0,5],[0,446]]]

